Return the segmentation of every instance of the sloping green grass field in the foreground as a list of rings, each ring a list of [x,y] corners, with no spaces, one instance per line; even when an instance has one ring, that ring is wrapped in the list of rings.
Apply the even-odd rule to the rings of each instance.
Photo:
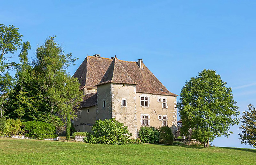
[[[256,164],[256,150],[0,138],[0,164]]]

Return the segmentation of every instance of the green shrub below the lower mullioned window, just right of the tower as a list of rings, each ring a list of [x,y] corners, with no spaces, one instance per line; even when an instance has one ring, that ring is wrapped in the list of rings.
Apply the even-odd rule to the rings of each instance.
[[[158,143],[159,141],[159,130],[150,126],[140,127],[139,138],[142,143]]]

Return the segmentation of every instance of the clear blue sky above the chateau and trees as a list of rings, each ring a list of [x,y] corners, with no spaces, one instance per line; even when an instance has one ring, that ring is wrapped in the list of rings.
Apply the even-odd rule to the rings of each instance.
[[[57,35],[65,52],[137,61],[180,94],[204,68],[216,70],[233,88],[239,111],[256,105],[256,1],[3,1],[0,23],[20,28],[23,41],[43,44]],[[18,62],[18,54],[14,60]],[[243,147],[238,126],[215,146]]]

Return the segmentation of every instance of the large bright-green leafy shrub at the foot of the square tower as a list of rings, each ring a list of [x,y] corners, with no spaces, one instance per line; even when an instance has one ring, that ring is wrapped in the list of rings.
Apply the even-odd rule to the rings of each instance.
[[[124,145],[131,137],[127,126],[119,123],[114,118],[96,120],[92,126],[93,133],[84,138],[86,143],[117,144]]]

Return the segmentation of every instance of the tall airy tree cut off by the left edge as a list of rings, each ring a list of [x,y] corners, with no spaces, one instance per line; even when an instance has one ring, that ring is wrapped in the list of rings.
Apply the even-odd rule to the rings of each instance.
[[[0,24],[0,105],[1,105],[1,118],[3,115],[4,104],[7,102],[7,93],[12,86],[13,78],[9,74],[9,69],[15,66],[14,62],[10,62],[13,54],[16,52],[21,43],[22,35],[18,32],[19,28],[13,25],[5,26]]]

